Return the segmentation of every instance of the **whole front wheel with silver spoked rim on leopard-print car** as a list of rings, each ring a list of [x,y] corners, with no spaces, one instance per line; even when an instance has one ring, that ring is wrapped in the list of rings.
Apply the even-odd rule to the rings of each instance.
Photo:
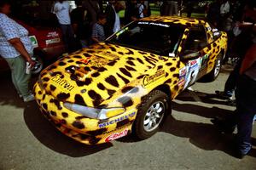
[[[168,111],[168,96],[160,90],[148,94],[138,109],[133,132],[138,139],[148,139],[156,133]]]

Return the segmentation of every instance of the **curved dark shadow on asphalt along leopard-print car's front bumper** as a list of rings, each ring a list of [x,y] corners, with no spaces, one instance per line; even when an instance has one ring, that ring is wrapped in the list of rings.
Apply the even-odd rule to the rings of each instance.
[[[51,150],[67,156],[88,156],[113,146],[113,144],[110,143],[90,146],[68,138],[51,125],[51,123],[41,114],[36,102],[26,105],[24,110],[24,120],[26,126],[42,144]]]

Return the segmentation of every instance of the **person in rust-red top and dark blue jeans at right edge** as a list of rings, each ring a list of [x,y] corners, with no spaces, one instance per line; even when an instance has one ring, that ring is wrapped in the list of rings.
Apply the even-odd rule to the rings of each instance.
[[[236,88],[237,151],[242,158],[251,150],[253,117],[256,114],[256,44],[241,63]]]

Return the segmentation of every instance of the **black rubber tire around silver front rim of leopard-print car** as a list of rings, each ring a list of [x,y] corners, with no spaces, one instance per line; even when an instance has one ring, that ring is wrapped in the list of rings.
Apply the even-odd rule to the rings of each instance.
[[[160,114],[158,116],[160,116],[160,118],[156,118],[159,120],[156,121],[157,124],[155,124],[154,128],[146,129],[147,127],[145,127],[144,122],[147,122],[148,119],[150,119],[148,114],[153,114],[152,112],[157,110],[156,106],[158,103],[159,103],[160,107],[163,106],[163,111],[160,111],[160,108],[159,108]],[[147,96],[144,97],[144,99],[142,101],[142,105],[138,108],[137,118],[136,118],[135,122],[133,123],[133,127],[132,127],[133,128],[132,132],[137,136],[138,139],[148,139],[149,137],[154,135],[154,133],[156,133],[159,130],[159,127],[166,116],[166,111],[168,111],[168,103],[169,103],[168,96],[160,90],[154,90],[150,94],[148,94]],[[155,106],[155,108],[154,108],[154,106]],[[151,108],[151,110],[150,110],[151,113],[149,113],[149,108]],[[154,111],[152,111],[153,108],[155,109]],[[155,113],[155,114],[158,114],[158,113]],[[147,117],[148,117],[148,119],[147,119]],[[146,121],[146,119],[147,119],[147,121]],[[148,122],[148,125],[149,125],[149,122]],[[153,123],[151,123],[151,124],[153,124]]]

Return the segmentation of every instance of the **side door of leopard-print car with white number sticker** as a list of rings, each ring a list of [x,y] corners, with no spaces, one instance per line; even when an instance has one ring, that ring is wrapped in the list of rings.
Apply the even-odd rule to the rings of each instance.
[[[190,27],[180,56],[181,61],[186,65],[184,68],[186,71],[184,88],[188,88],[196,80],[205,75],[207,61],[210,55],[210,52],[205,54],[207,45],[207,32],[204,26]]]

